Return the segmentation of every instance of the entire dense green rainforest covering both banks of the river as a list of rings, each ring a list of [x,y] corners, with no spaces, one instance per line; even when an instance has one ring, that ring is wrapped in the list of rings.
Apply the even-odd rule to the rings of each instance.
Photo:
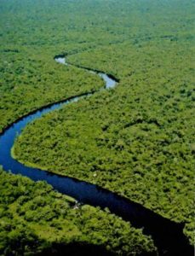
[[[191,244],[193,14],[192,0],[0,3],[0,131],[50,102],[103,86],[100,77],[77,67],[119,79],[114,89],[27,125],[13,157],[183,222]],[[72,66],[56,63],[55,55],[65,55]],[[75,207],[46,183],[0,175],[1,253],[42,253],[77,243],[118,255],[155,254],[150,237],[109,211]]]

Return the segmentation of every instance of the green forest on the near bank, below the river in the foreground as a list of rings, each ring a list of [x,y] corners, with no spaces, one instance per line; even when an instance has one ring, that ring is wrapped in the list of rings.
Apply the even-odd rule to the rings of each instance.
[[[59,244],[106,247],[116,255],[154,253],[152,239],[108,210],[77,206],[44,182],[0,170],[0,254],[32,255]]]

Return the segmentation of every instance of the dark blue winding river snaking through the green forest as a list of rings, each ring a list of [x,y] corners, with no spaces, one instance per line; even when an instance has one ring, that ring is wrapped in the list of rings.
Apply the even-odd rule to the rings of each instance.
[[[56,55],[54,60],[60,64],[68,65],[64,55]],[[86,69],[86,72],[98,74],[104,79],[106,84],[104,89],[106,90],[112,89],[118,82],[118,79],[114,79],[106,73],[84,67],[79,68]],[[71,195],[77,201],[84,204],[101,208],[108,207],[111,212],[122,217],[124,220],[130,221],[136,228],[142,228],[144,234],[151,235],[155,245],[158,247],[159,255],[193,255],[193,247],[189,245],[186,236],[183,234],[184,224],[177,224],[168,218],[163,218],[157,213],[141,206],[141,204],[130,201],[94,184],[27,167],[12,158],[11,148],[14,145],[14,139],[27,124],[40,118],[45,113],[61,108],[71,102],[77,102],[83,97],[91,96],[94,93],[72,96],[64,101],[49,104],[33,113],[29,113],[14,122],[13,125],[10,125],[0,135],[0,165],[3,166],[5,171],[9,172],[10,170],[14,174],[20,173],[23,176],[32,178],[34,181],[44,180],[60,193]]]

